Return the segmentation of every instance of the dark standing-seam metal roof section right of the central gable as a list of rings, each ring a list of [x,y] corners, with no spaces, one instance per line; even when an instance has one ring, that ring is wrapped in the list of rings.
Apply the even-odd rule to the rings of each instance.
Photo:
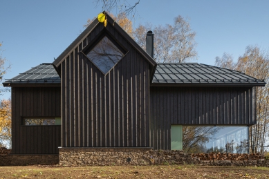
[[[151,86],[265,86],[236,70],[197,63],[158,64]]]

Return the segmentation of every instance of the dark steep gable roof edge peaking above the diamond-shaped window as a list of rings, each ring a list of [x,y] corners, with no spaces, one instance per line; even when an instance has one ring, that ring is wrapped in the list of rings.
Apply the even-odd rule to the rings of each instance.
[[[129,41],[129,43],[133,46],[133,48],[135,48],[136,50],[138,50],[138,52],[140,52],[140,54],[145,57],[145,59],[147,60],[147,62],[149,62],[149,71],[151,73],[151,79],[154,76],[154,70],[156,68],[156,62],[154,61],[154,59],[147,53],[145,52],[145,50],[143,50],[137,43],[136,41],[134,41],[127,32],[125,32],[125,30],[123,30],[117,22],[115,22],[106,12],[103,12],[106,15],[106,21],[107,23],[110,23],[112,25],[113,28],[115,28],[115,30],[117,30],[122,37],[124,37],[127,41]],[[96,18],[80,35],[79,37],[77,37],[77,39],[75,39],[75,41],[72,42],[72,44],[70,46],[68,46],[68,48],[66,48],[66,50],[64,50],[64,52],[59,55],[59,57],[57,57],[57,59],[55,59],[55,61],[53,62],[53,66],[55,66],[55,69],[57,70],[57,68],[60,66],[60,64],[64,61],[64,59],[66,58],[66,56],[78,45],[80,44],[90,33],[91,31],[93,31],[95,29],[96,26],[98,26],[100,22],[98,21],[98,19]],[[59,71],[57,71],[59,73]],[[59,74],[60,75],[60,74]]]

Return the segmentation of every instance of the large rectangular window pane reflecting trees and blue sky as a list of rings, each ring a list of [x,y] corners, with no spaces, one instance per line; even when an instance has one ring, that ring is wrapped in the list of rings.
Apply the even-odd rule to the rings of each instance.
[[[184,126],[187,153],[248,153],[248,126]]]

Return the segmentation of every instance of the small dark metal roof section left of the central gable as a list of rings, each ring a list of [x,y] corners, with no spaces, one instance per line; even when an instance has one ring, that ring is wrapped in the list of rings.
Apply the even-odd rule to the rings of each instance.
[[[61,84],[61,78],[57,74],[52,64],[40,64],[27,70],[24,73],[20,73],[12,79],[6,79],[3,82],[3,86],[15,86],[15,85],[33,85],[33,84]]]

